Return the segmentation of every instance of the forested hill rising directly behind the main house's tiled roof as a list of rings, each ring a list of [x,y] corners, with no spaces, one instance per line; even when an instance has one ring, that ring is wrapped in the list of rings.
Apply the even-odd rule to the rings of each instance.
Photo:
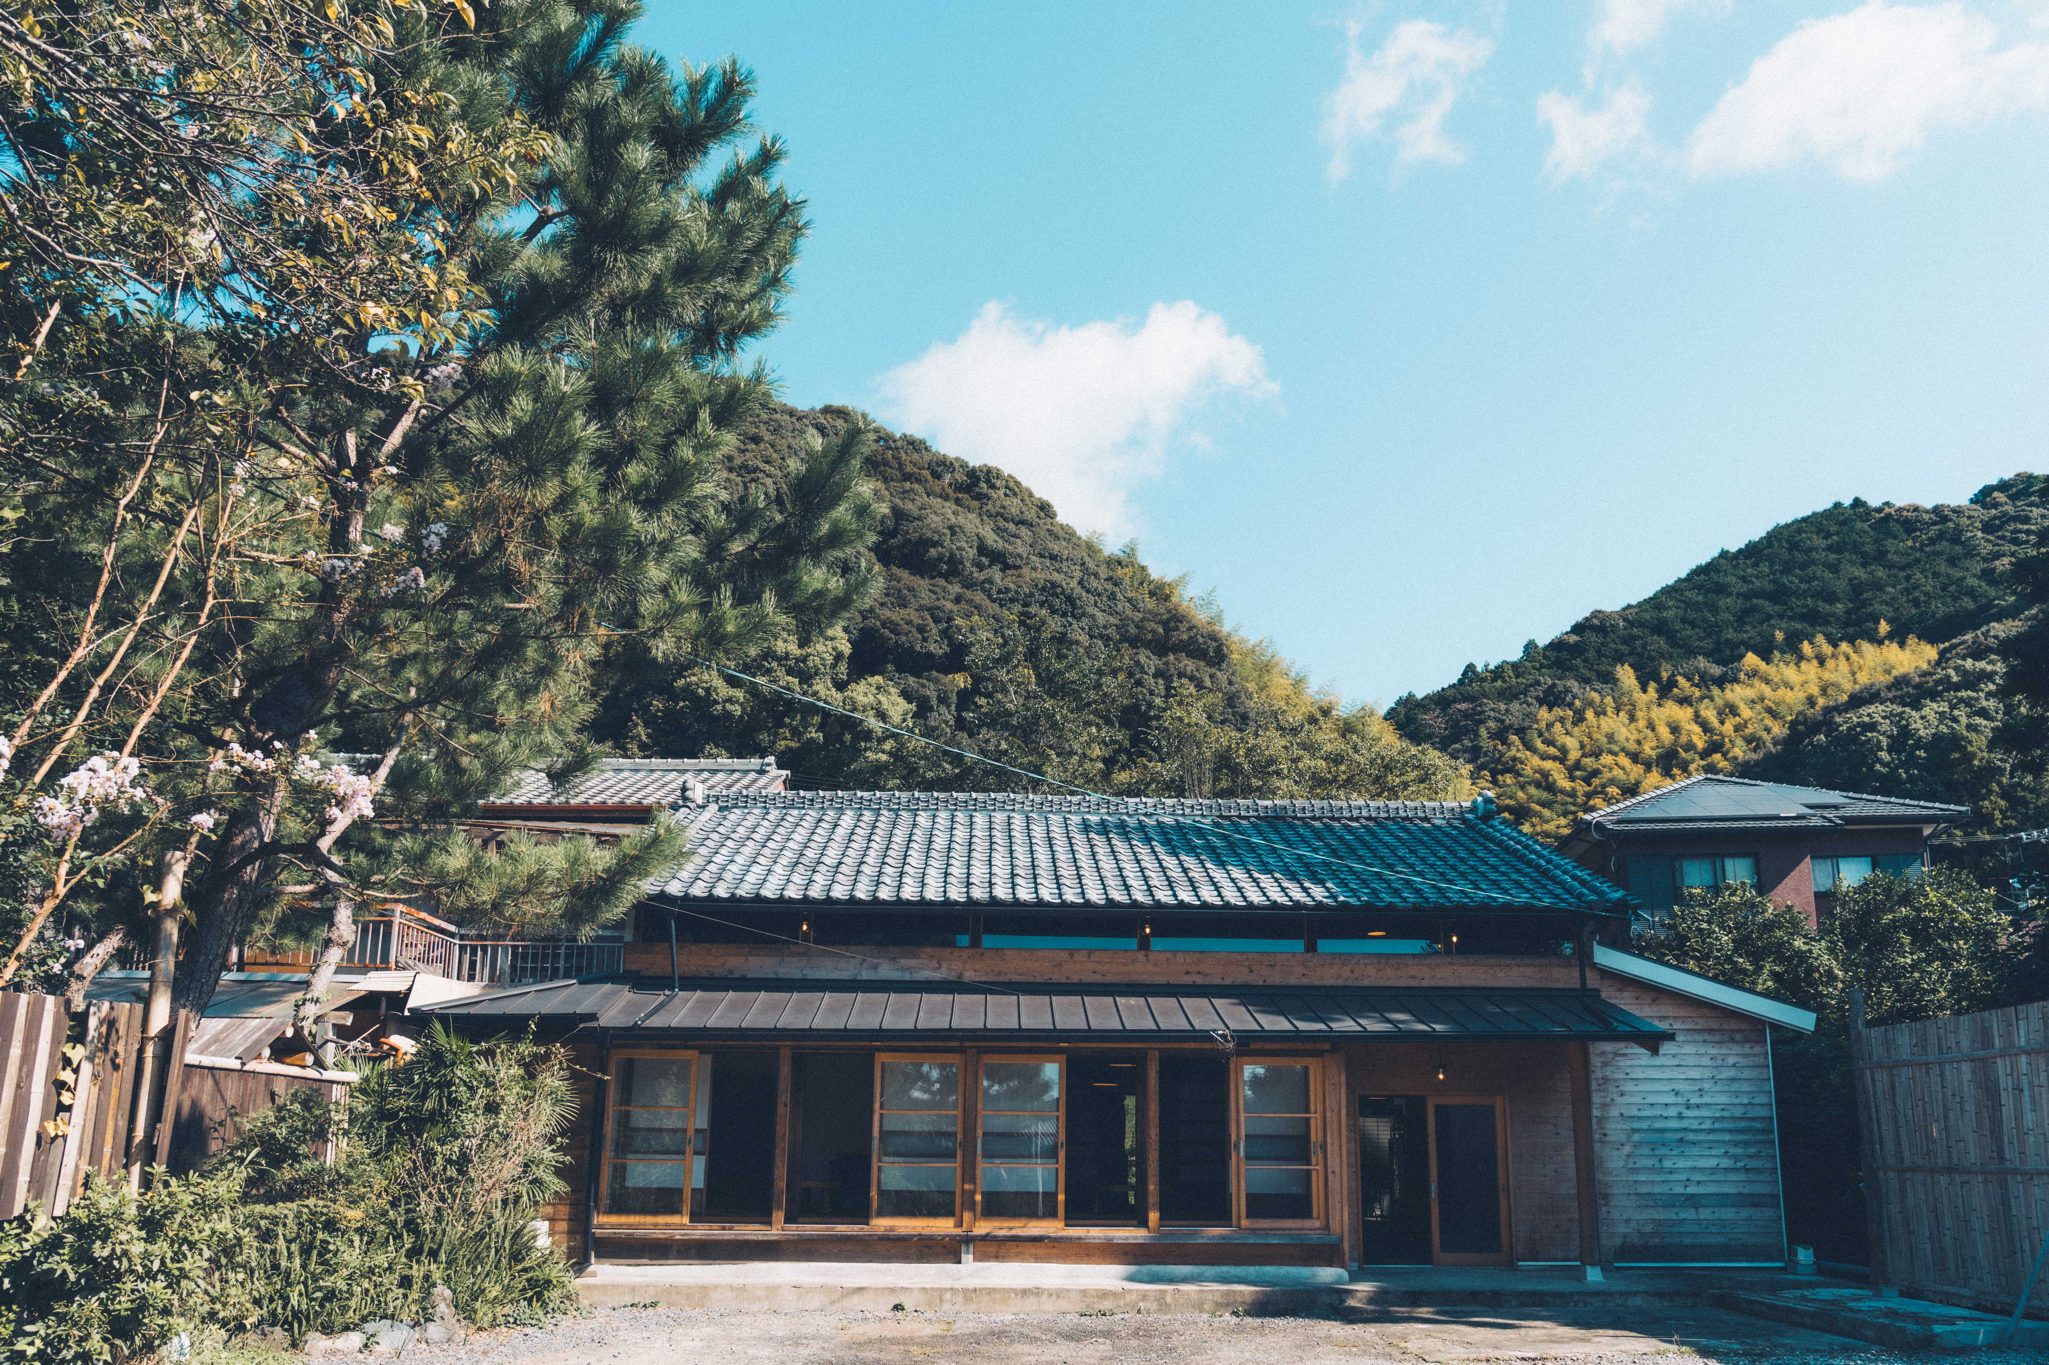
[[[727,458],[729,487],[781,505],[820,440],[865,422],[770,405]],[[748,671],[930,739],[1092,790],[1248,796],[1463,796],[1463,769],[1371,710],[1309,692],[1215,604],[1059,522],[1012,475],[875,428],[885,505],[877,575],[842,624],[785,630]],[[777,753],[803,786],[1031,786],[721,677],[647,659],[607,698],[625,753]]]

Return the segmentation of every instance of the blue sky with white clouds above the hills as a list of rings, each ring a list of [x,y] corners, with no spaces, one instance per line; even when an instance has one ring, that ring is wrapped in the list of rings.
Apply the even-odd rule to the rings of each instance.
[[[2049,2],[697,4],[785,397],[1002,465],[1346,700],[2043,458]]]

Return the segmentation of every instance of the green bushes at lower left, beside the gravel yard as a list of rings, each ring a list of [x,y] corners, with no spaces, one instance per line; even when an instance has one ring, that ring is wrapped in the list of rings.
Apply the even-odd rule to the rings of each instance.
[[[0,1359],[113,1361],[178,1332],[422,1322],[449,1285],[475,1326],[570,1306],[529,1220],[559,1193],[566,1058],[428,1031],[348,1101],[293,1091],[203,1173],[88,1183],[53,1226],[0,1224]],[[322,1152],[338,1142],[332,1166]],[[4,1314],[12,1312],[8,1318]]]

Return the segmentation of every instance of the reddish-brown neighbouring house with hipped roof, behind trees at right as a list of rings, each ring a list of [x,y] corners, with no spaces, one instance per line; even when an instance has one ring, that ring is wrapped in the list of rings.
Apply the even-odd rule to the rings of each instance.
[[[1969,806],[1703,776],[1588,810],[1557,847],[1654,917],[1688,886],[1750,882],[1817,925],[1838,890],[1926,868],[1928,841],[1967,819]]]

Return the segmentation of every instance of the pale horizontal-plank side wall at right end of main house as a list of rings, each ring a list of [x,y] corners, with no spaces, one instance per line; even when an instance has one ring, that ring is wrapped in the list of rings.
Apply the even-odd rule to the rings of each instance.
[[[1613,974],[1600,995],[1678,1036],[1590,1048],[1606,1259],[1783,1263],[1766,1025]]]

